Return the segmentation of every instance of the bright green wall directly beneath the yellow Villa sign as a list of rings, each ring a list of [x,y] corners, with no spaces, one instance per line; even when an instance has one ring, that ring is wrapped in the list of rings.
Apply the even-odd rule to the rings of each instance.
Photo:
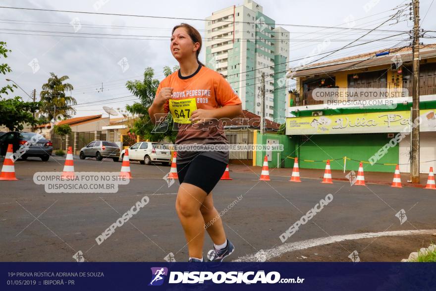
[[[299,157],[299,167],[302,169],[326,169],[325,162],[305,162],[303,160],[324,161],[327,159],[340,159],[344,156],[359,160],[368,161],[380,148],[389,142],[387,133],[371,134],[320,134],[312,135],[307,141],[299,139],[297,154]],[[398,163],[398,144],[390,148],[387,153],[377,163],[397,164]],[[395,166],[384,166],[363,164],[364,171],[370,172],[389,172],[395,171]],[[344,161],[330,161],[332,170],[343,170]],[[359,170],[359,162],[347,160],[346,170]]]

